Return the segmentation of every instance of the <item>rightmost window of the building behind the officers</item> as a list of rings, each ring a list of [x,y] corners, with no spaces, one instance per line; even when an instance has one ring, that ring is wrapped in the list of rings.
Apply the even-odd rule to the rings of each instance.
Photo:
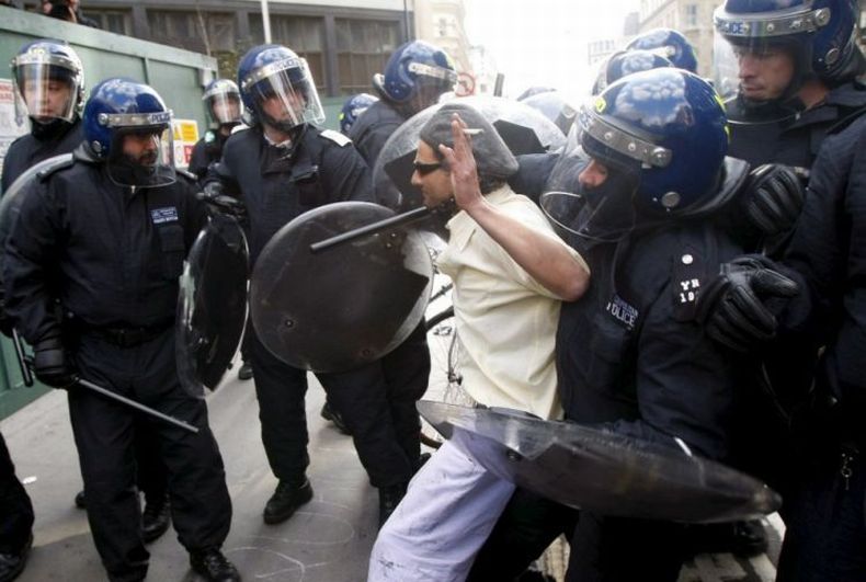
[[[397,22],[337,19],[340,91],[371,90],[373,76],[383,72],[400,36]]]

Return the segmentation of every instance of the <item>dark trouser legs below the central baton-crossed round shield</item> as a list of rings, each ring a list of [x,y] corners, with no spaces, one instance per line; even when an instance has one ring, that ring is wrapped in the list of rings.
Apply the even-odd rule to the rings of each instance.
[[[276,358],[254,333],[250,346],[267,461],[277,479],[297,480],[309,465],[307,372]],[[406,378],[411,375],[403,369],[395,370],[394,380],[388,381],[381,361],[349,372],[316,374],[328,401],[352,432],[373,487],[406,483],[417,468],[420,422],[415,402],[426,389],[428,377],[418,374],[424,376],[423,385],[409,383]]]

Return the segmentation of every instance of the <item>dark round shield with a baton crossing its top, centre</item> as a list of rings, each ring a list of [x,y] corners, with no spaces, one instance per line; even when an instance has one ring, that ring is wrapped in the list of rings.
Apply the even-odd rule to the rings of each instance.
[[[283,362],[342,372],[409,336],[430,298],[433,266],[417,231],[394,229],[315,252],[310,246],[394,216],[363,202],[300,215],[267,242],[250,283],[261,342]]]

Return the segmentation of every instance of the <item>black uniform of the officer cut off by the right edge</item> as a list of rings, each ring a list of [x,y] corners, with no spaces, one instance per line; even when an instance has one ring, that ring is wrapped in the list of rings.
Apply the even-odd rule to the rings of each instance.
[[[866,116],[829,135],[811,195],[785,255],[802,304],[782,315],[779,339],[817,352],[813,400],[800,435],[779,581],[866,579]]]

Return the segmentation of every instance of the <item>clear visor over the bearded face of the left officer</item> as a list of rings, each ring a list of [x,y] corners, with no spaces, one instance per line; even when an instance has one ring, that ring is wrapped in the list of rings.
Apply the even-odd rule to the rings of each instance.
[[[161,187],[178,179],[170,127],[119,129],[110,151],[109,178],[119,186]]]

